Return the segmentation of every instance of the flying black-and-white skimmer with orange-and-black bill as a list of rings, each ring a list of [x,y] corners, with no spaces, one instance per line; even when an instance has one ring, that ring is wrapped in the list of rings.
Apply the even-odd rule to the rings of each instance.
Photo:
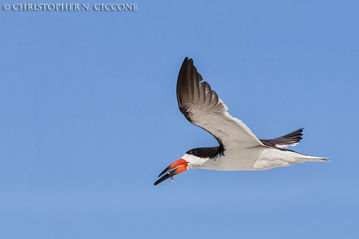
[[[231,117],[227,107],[186,57],[179,70],[177,101],[184,117],[211,133],[219,146],[194,148],[168,166],[155,185],[190,168],[213,170],[266,170],[306,161],[328,161],[287,149],[302,139],[300,128],[282,137],[258,139],[239,119]],[[173,169],[173,170],[172,170]],[[172,170],[172,171],[171,171]]]

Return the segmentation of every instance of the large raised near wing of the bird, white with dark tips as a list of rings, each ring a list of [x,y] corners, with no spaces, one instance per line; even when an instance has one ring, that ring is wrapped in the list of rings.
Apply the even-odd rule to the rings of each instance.
[[[211,133],[222,149],[226,145],[231,148],[264,146],[241,120],[228,114],[228,108],[208,83],[201,81],[193,60],[186,57],[177,81],[179,110],[185,118]]]

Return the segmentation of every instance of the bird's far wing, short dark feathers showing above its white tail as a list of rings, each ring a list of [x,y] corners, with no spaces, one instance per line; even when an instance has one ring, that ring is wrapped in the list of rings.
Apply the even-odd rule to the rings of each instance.
[[[273,139],[260,139],[260,141],[272,148],[286,148],[288,146],[295,146],[302,139],[303,128],[297,129],[291,133],[288,133],[282,137],[273,138]]]

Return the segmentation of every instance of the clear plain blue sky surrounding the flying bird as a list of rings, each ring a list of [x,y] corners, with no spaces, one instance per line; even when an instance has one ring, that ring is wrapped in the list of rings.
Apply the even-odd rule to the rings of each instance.
[[[359,237],[357,2],[4,3],[17,2],[0,11],[0,238]],[[179,112],[186,56],[258,138],[304,127],[291,149],[332,162],[154,186],[217,145]]]

